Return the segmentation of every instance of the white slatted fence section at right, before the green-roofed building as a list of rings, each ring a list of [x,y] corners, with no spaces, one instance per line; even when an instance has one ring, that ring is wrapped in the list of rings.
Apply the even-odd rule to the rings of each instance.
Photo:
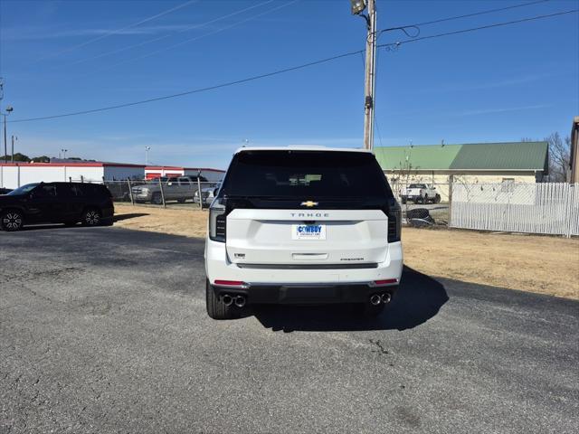
[[[454,184],[450,225],[579,235],[579,184]]]

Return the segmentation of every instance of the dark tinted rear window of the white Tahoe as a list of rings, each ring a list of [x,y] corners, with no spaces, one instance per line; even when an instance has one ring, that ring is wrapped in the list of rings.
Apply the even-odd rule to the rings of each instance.
[[[223,194],[243,197],[392,197],[369,153],[243,151],[233,157]]]

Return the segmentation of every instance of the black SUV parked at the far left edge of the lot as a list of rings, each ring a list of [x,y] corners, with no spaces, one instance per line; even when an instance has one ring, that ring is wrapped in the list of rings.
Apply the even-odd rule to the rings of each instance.
[[[0,228],[18,231],[24,224],[112,222],[114,207],[105,185],[87,183],[26,184],[0,196]]]

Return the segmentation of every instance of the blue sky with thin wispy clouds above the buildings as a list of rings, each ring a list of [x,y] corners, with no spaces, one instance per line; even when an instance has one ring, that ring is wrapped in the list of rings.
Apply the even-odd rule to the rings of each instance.
[[[378,0],[378,27],[521,3]],[[14,106],[12,119],[155,98],[365,45],[364,22],[347,0],[0,4],[2,105]],[[425,25],[421,36],[576,8],[579,0],[552,0]],[[404,39],[385,33],[379,42]],[[155,164],[215,167],[226,167],[245,139],[253,146],[359,147],[363,80],[356,55],[178,99],[9,123],[8,135],[31,156],[67,148],[69,156],[143,163],[151,146]],[[579,14],[381,51],[376,87],[376,146],[567,135],[579,115]]]

